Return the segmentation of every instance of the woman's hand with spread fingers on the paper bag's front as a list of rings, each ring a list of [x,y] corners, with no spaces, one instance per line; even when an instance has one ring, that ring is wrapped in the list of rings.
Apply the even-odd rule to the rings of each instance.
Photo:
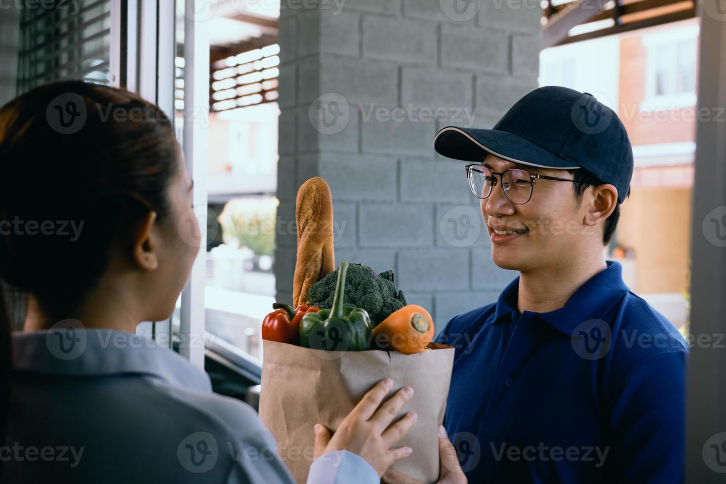
[[[406,387],[399,390],[381,404],[391,388],[393,381],[390,378],[378,382],[343,419],[333,438],[330,438],[330,432],[324,425],[315,425],[315,458],[326,452],[345,449],[361,456],[381,476],[393,462],[409,456],[409,447],[393,446],[413,427],[417,415],[411,412],[395,424],[391,425],[391,422],[404,403],[409,401],[413,389]]]

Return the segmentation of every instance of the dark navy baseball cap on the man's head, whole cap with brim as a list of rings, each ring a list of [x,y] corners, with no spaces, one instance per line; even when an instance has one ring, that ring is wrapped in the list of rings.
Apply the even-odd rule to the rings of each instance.
[[[592,94],[560,86],[534,89],[492,129],[442,129],[440,155],[483,161],[487,153],[539,168],[584,168],[618,189],[624,202],[633,173],[630,139],[618,115]]]

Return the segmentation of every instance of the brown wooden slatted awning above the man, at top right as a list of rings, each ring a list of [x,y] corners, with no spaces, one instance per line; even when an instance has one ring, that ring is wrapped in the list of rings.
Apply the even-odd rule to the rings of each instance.
[[[544,47],[609,36],[696,16],[696,0],[546,1],[542,33]]]

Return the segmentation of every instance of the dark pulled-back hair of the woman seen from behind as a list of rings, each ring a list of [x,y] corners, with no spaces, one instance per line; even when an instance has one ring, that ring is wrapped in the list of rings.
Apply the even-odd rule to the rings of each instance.
[[[65,81],[12,100],[0,108],[0,278],[52,321],[72,318],[131,223],[150,210],[169,222],[178,169],[171,120],[129,91]],[[12,374],[3,303],[0,293],[0,442]]]

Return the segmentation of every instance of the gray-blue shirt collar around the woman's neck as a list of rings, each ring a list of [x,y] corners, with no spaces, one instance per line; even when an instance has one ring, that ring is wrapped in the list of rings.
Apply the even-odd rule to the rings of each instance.
[[[139,374],[211,392],[209,377],[203,369],[154,340],[134,333],[74,328],[14,332],[12,346],[15,372],[60,377]]]

